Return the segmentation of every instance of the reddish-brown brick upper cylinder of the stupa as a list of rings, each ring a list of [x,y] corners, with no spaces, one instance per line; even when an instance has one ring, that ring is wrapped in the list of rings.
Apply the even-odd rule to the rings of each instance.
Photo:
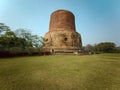
[[[52,13],[50,19],[50,31],[70,30],[75,31],[74,15],[65,10],[58,10]]]

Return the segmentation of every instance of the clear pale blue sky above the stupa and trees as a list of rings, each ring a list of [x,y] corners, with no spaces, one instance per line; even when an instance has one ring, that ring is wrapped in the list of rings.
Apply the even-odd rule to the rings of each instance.
[[[75,15],[83,45],[107,41],[120,46],[120,0],[0,0],[0,22],[44,36],[50,14],[58,9]]]

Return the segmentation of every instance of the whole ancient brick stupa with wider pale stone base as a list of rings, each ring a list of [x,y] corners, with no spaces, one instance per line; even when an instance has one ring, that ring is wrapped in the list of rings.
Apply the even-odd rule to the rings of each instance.
[[[44,49],[49,52],[73,53],[82,48],[81,36],[75,28],[75,17],[67,10],[57,10],[51,14],[49,32],[44,38]]]

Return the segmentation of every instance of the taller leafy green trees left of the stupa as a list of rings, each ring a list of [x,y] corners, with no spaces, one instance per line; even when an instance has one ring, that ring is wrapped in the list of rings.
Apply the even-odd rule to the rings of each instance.
[[[40,55],[43,37],[33,35],[27,29],[11,30],[0,23],[0,56]]]

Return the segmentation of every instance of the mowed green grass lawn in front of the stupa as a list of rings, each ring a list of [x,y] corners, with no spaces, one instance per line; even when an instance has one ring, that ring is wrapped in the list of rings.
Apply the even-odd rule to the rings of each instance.
[[[120,90],[120,54],[0,59],[0,90]]]

